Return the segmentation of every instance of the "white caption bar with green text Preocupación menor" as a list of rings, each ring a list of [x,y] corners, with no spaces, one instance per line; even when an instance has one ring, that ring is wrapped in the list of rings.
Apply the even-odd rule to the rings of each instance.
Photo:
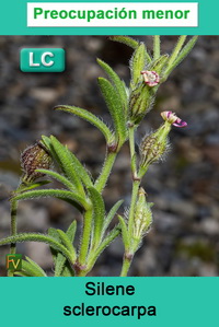
[[[30,27],[197,27],[197,2],[30,2]]]

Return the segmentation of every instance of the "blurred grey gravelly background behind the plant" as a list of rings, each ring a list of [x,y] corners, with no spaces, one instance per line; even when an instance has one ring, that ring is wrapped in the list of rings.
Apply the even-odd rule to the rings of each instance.
[[[145,40],[151,50],[150,36]],[[170,52],[176,36],[163,36],[162,51]],[[62,73],[23,73],[23,47],[62,47],[67,68]],[[126,82],[131,50],[103,36],[1,36],[0,37],[0,237],[10,233],[8,198],[21,176],[20,154],[42,135],[55,135],[68,144],[96,177],[105,154],[102,135],[91,125],[53,107],[71,104],[87,108],[110,122],[96,78],[104,75],[100,57]],[[131,276],[218,276],[219,273],[219,37],[201,36],[192,54],[159,89],[154,109],[145,118],[137,141],[162,122],[160,113],[173,110],[188,122],[173,128],[165,161],[150,167],[143,187],[153,206],[153,224],[138,250]],[[51,187],[58,187],[53,183]],[[104,191],[106,209],[130,201],[131,177],[127,144],[117,157]],[[120,213],[123,214],[124,208]],[[81,217],[61,200],[41,199],[19,205],[19,232],[45,233],[49,226],[66,230]],[[115,220],[116,222],[116,220]],[[79,238],[79,235],[78,235]],[[19,253],[53,275],[47,245],[25,243]],[[118,276],[123,244],[116,240],[100,257],[91,276]],[[0,247],[0,276],[5,276]]]

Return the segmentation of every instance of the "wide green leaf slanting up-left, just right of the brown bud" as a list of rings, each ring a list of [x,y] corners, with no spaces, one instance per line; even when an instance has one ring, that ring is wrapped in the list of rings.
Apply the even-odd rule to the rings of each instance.
[[[66,177],[76,185],[78,191],[84,195],[83,186],[81,184],[79,174],[73,166],[71,152],[67,149],[67,147],[62,145],[55,137],[50,137],[51,145],[56,151],[59,163],[61,165],[61,170]]]

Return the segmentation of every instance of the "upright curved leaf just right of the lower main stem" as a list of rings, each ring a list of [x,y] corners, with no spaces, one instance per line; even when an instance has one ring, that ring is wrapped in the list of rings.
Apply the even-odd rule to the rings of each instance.
[[[93,205],[93,222],[94,222],[93,247],[96,247],[101,241],[101,236],[103,233],[105,205],[101,194],[94,187],[89,187],[88,191],[89,191],[91,202]]]

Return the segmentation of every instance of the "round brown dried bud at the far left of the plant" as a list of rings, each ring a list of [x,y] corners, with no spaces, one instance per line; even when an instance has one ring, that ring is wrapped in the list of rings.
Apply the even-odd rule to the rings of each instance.
[[[24,171],[22,182],[32,183],[36,178],[45,176],[35,170],[48,170],[51,164],[51,157],[41,142],[28,147],[21,155],[21,165]]]

